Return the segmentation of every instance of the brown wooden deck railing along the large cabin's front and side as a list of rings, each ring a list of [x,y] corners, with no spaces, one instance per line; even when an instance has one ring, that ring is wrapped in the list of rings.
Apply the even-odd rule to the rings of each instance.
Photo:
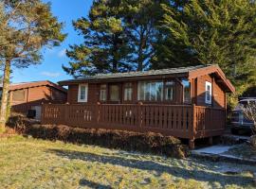
[[[44,104],[42,123],[154,131],[194,139],[220,134],[225,129],[225,110],[194,105]]]

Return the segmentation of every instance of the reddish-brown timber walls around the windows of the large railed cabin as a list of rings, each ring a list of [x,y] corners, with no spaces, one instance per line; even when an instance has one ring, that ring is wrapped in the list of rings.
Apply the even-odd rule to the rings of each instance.
[[[173,78],[174,79],[174,78]],[[170,79],[169,79],[170,80]],[[210,75],[196,77],[191,80],[191,93],[192,93],[192,103],[198,106],[207,106],[214,108],[226,108],[226,94],[223,91],[222,87],[215,81],[216,78]],[[174,101],[143,101],[143,104],[183,104],[183,86],[179,79],[174,79],[175,81],[175,90],[174,90]],[[211,83],[212,88],[212,103],[205,103],[205,92],[206,92],[206,81]],[[111,85],[118,84],[120,89],[120,101],[112,102],[110,100],[106,100],[101,103],[107,104],[137,104],[137,82],[138,81],[127,81],[133,84],[133,99],[132,101],[124,101],[124,84],[125,82],[116,82],[116,83],[89,83],[88,84],[88,98],[86,103],[78,102],[78,92],[79,92],[79,84],[69,85],[68,86],[68,103],[70,104],[96,104],[100,102],[100,86],[101,84]],[[108,89],[108,87],[107,87]],[[165,92],[164,92],[165,93]],[[109,91],[107,91],[107,95],[109,96]]]

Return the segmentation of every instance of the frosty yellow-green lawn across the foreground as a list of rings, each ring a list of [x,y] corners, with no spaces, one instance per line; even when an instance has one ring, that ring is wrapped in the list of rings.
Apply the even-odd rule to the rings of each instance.
[[[255,171],[21,136],[0,139],[2,188],[253,188]]]

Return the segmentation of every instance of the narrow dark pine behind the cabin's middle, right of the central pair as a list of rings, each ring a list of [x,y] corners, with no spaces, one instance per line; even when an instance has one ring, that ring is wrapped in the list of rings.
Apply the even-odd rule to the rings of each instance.
[[[162,18],[161,4],[168,0],[122,1],[124,31],[132,49],[129,60],[137,71],[149,69],[155,55],[155,44],[161,34],[157,24]]]

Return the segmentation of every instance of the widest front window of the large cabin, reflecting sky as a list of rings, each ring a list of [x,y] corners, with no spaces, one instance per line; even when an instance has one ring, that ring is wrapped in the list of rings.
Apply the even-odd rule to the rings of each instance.
[[[138,82],[137,100],[143,100],[143,101],[163,100],[163,82],[162,81]]]

